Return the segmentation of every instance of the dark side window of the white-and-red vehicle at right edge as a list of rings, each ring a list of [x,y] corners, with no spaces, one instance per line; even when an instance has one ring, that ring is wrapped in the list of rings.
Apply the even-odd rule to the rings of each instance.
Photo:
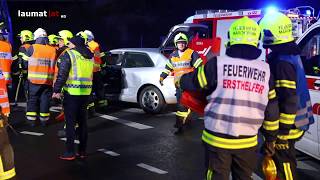
[[[320,28],[311,31],[299,46],[306,75],[320,76]]]

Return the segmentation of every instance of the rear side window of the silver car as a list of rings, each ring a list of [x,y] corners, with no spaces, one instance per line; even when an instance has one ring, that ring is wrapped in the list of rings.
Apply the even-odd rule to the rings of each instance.
[[[125,53],[122,67],[137,68],[137,67],[153,67],[154,64],[146,53]]]

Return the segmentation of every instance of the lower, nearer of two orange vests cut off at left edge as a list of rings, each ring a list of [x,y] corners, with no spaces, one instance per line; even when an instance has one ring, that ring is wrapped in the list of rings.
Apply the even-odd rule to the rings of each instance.
[[[10,114],[10,104],[8,99],[7,85],[5,77],[0,71],[0,106],[2,108],[3,114],[9,116]]]

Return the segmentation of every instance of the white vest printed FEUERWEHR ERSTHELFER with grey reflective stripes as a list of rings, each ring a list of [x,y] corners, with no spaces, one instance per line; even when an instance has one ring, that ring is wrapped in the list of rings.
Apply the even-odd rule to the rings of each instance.
[[[257,135],[268,103],[269,65],[218,58],[217,75],[217,88],[205,108],[205,128],[234,137]]]

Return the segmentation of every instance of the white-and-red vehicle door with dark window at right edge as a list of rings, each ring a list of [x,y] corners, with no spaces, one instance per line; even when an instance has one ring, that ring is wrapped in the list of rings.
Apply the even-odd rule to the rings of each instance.
[[[298,45],[302,49],[301,60],[307,75],[308,89],[313,105],[315,123],[306,131],[297,148],[315,157],[320,157],[320,27],[311,30]]]

